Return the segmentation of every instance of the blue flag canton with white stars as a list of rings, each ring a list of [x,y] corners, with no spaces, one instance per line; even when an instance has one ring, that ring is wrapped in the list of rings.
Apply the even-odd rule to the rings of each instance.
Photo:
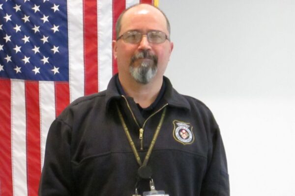
[[[68,81],[65,0],[0,1],[0,77]]]

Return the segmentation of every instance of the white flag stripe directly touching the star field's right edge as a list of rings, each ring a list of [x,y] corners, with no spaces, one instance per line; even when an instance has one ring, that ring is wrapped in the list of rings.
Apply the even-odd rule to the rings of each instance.
[[[83,0],[68,0],[70,102],[84,96]]]

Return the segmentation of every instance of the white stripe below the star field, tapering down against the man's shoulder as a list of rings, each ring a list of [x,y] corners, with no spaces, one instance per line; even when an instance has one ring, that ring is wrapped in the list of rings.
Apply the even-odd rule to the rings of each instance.
[[[55,88],[54,82],[39,82],[40,99],[40,137],[41,137],[41,167],[44,162],[46,138],[51,123],[55,120]]]

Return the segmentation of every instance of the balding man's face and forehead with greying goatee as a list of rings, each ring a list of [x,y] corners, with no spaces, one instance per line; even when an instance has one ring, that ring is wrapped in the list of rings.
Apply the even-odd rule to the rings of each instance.
[[[139,5],[129,9],[122,17],[119,35],[127,31],[143,34],[149,31],[161,31],[169,37],[165,17],[156,8]],[[147,36],[137,44],[125,43],[123,39],[113,41],[115,58],[118,62],[119,75],[132,77],[135,81],[147,84],[154,77],[162,77],[173,49],[173,43],[149,43]]]

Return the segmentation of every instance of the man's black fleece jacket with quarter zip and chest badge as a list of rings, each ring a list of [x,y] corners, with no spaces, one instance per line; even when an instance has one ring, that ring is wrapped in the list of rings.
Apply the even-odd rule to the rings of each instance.
[[[39,195],[135,193],[139,165],[118,117],[118,104],[142,160],[166,108],[148,161],[156,190],[164,190],[170,196],[229,196],[225,150],[207,106],[178,94],[164,77],[165,92],[145,119],[133,98],[118,93],[116,77],[106,91],[78,98],[52,123]],[[144,128],[142,144],[140,128]],[[148,180],[140,180],[138,185],[140,194],[149,191]]]

